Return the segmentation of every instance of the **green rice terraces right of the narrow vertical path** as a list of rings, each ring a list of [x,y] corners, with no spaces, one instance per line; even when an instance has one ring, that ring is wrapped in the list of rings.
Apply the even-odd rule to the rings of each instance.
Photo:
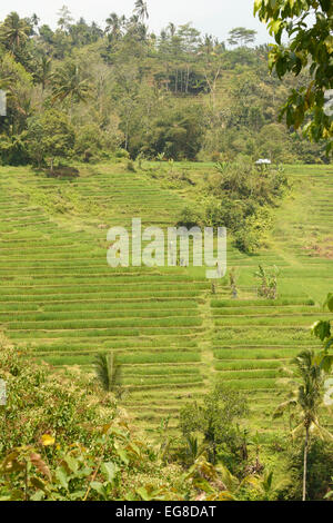
[[[254,287],[254,264],[278,265],[279,299],[211,300],[214,367],[231,386],[251,392],[253,417],[268,430],[272,406],[281,401],[275,397],[279,367],[302,348],[317,348],[309,327],[332,316],[321,304],[333,288],[333,168],[286,170],[293,190],[275,213],[270,250],[252,258],[231,254],[229,259],[229,266],[239,267],[241,283]]]

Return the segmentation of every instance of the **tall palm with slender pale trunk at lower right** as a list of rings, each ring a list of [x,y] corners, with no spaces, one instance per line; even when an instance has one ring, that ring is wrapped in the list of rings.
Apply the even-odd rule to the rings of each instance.
[[[304,435],[303,454],[303,492],[302,500],[306,499],[306,475],[307,475],[307,451],[310,434],[316,432],[320,437],[333,440],[319,422],[319,408],[323,399],[324,373],[314,363],[314,352],[306,349],[300,353],[292,363],[295,365],[293,372],[294,379],[289,381],[294,388],[290,398],[278,406],[274,417],[280,417],[286,409],[296,408],[300,414],[297,426],[292,431],[293,437]]]

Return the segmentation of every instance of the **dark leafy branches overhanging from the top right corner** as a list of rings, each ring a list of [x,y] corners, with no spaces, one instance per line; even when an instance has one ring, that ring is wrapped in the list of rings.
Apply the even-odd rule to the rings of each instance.
[[[287,72],[309,79],[292,89],[282,114],[295,129],[303,126],[312,140],[327,140],[332,150],[332,115],[325,93],[333,88],[333,3],[331,0],[255,0],[254,13],[266,23],[275,45],[270,51],[271,70],[282,79]],[[287,38],[287,42],[283,41]]]

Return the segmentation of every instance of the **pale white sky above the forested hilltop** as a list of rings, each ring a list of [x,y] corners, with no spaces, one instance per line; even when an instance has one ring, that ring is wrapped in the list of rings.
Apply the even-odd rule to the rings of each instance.
[[[83,17],[103,28],[105,18],[113,11],[129,16],[134,0],[11,0],[3,3],[0,6],[0,20],[10,11],[17,11],[21,17],[36,12],[42,23],[54,28],[57,12],[65,4],[75,20]],[[158,32],[171,21],[175,24],[192,22],[203,33],[224,41],[231,29],[245,27],[258,31],[256,43],[265,43],[271,39],[265,26],[253,17],[253,3],[254,0],[148,0],[149,26]]]

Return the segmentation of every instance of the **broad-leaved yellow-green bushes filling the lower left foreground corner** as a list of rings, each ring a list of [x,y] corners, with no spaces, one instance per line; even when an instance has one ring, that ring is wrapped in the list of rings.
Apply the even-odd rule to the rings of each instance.
[[[169,463],[111,394],[75,371],[54,373],[1,342],[0,500],[230,500],[240,482],[201,454]]]

